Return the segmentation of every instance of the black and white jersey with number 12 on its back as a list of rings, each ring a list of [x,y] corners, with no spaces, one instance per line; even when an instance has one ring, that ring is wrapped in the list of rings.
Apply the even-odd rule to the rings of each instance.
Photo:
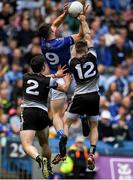
[[[94,48],[89,48],[86,55],[69,60],[69,69],[77,83],[75,94],[85,94],[99,91],[99,74],[97,55]]]

